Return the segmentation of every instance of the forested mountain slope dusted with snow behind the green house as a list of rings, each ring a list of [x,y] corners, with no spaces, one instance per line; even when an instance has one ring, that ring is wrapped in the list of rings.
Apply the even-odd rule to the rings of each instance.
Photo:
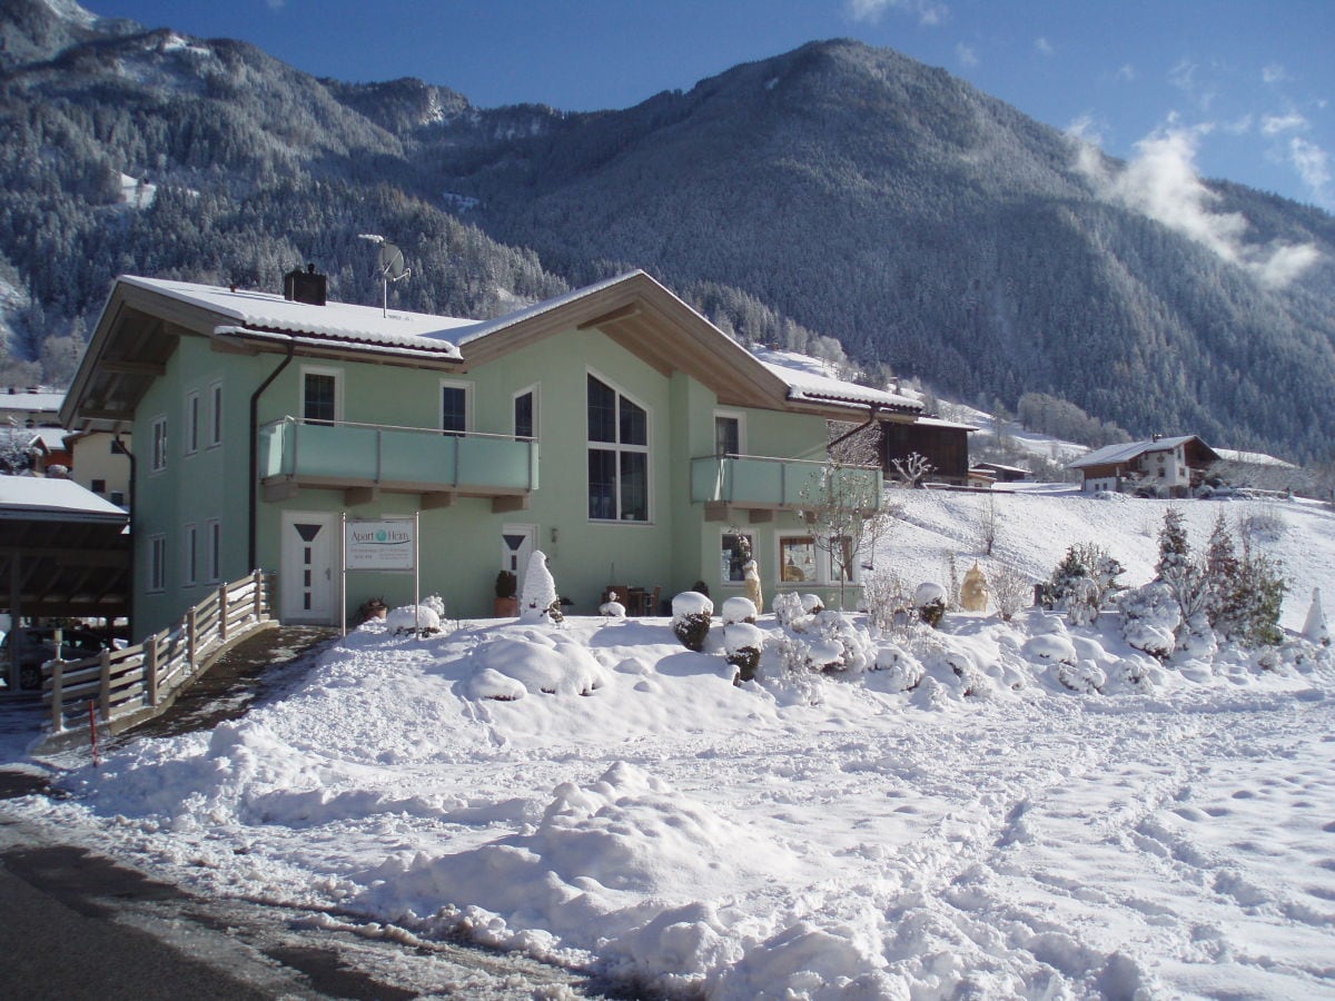
[[[124,271],[276,288],[314,260],[378,302],[356,235],[382,232],[406,308],[643,267],[740,334],[833,335],[989,406],[1039,391],[1132,434],[1331,455],[1330,215],[1216,183],[1188,234],[1121,164],[890,51],[812,43],[574,115],[318,80],[72,0],[7,4],[0,43],[0,292],[31,296],[11,368],[59,378]],[[1227,214],[1246,236],[1211,240]]]

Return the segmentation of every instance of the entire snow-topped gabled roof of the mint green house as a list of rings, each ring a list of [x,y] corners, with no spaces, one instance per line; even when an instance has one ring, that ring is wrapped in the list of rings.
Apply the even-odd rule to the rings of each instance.
[[[364,306],[310,306],[278,295],[121,276],[75,375],[61,419],[119,430],[176,338],[214,338],[247,351],[287,351],[466,372],[567,330],[597,328],[663,375],[682,371],[720,403],[836,419],[874,406],[917,412],[916,400],[768,366],[643,271],[631,271],[491,320]]]

